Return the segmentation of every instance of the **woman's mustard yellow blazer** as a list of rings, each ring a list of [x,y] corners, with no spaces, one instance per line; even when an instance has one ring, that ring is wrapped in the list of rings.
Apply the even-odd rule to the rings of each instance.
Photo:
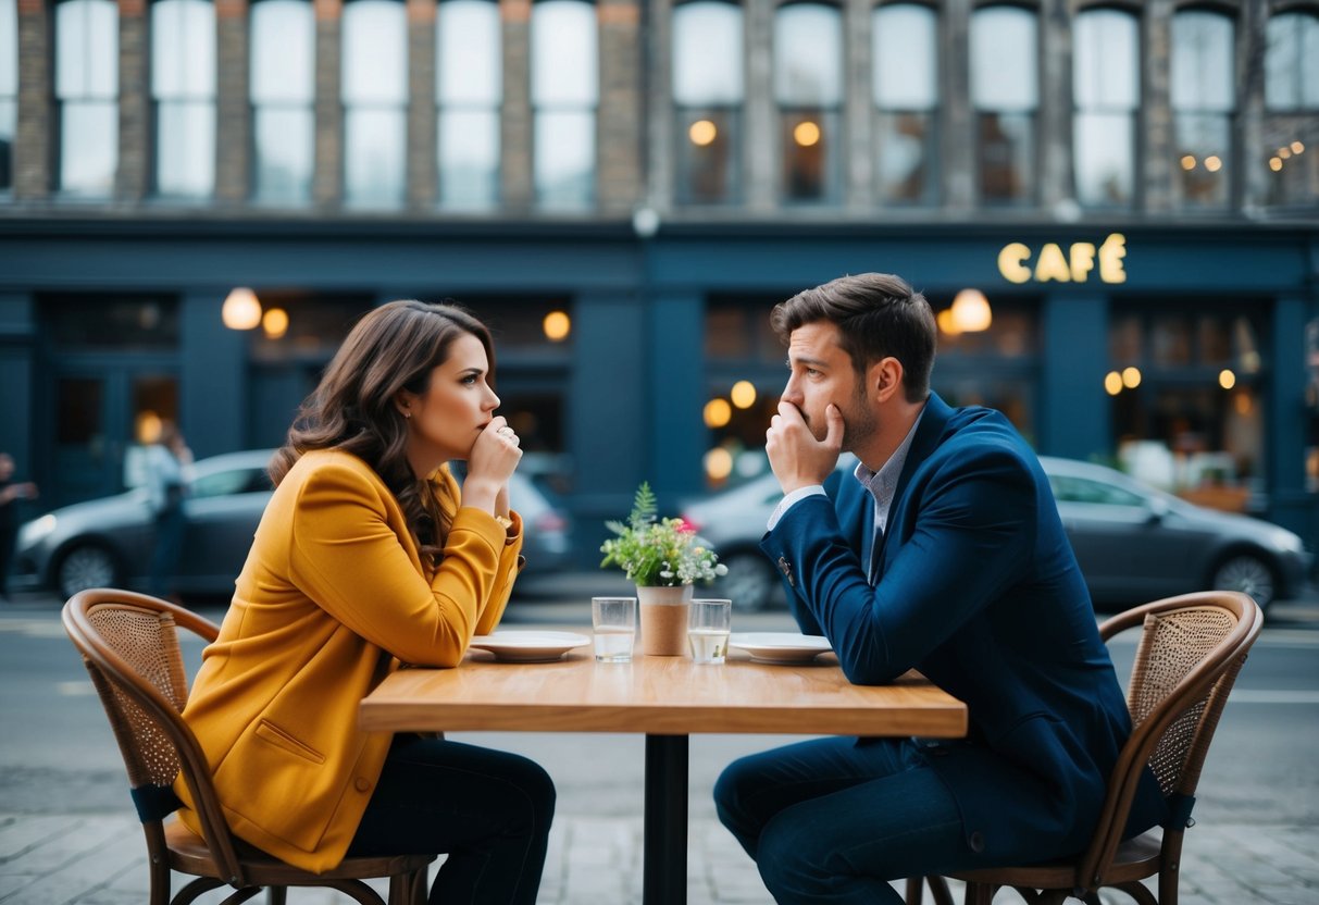
[[[400,661],[454,666],[499,623],[522,522],[458,508],[448,467],[431,478],[452,526],[423,563],[380,476],[342,451],[306,452],[256,530],[219,639],[183,719],[206,751],[233,832],[297,867],[343,860],[390,733],[357,728],[357,704]],[[429,558],[427,558],[429,559]],[[191,796],[183,822],[199,832]]]

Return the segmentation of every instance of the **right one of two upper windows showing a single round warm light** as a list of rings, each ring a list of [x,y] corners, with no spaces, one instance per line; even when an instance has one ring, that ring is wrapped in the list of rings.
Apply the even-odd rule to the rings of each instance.
[[[843,15],[838,7],[793,3],[774,13],[774,100],[781,197],[836,201],[843,148]]]

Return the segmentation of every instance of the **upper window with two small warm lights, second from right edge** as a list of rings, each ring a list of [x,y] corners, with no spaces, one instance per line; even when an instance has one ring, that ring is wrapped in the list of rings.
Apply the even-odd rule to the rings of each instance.
[[[1236,108],[1232,20],[1191,9],[1173,17],[1173,117],[1183,207],[1227,207]]]

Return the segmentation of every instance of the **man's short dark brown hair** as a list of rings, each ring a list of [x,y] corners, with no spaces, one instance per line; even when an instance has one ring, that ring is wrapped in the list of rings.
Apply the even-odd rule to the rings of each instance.
[[[807,323],[838,325],[839,346],[852,367],[865,369],[884,358],[902,363],[906,400],[930,394],[936,327],[925,296],[892,273],[859,273],[797,293],[774,306],[769,323],[787,344],[793,331]]]

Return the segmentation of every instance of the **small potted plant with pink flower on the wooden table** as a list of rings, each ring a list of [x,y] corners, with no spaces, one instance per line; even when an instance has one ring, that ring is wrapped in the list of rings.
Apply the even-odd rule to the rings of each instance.
[[[641,652],[681,656],[687,641],[692,582],[727,575],[728,567],[682,518],[660,518],[649,483],[637,488],[627,522],[607,521],[611,537],[600,547],[600,567],[617,566],[637,586]]]

